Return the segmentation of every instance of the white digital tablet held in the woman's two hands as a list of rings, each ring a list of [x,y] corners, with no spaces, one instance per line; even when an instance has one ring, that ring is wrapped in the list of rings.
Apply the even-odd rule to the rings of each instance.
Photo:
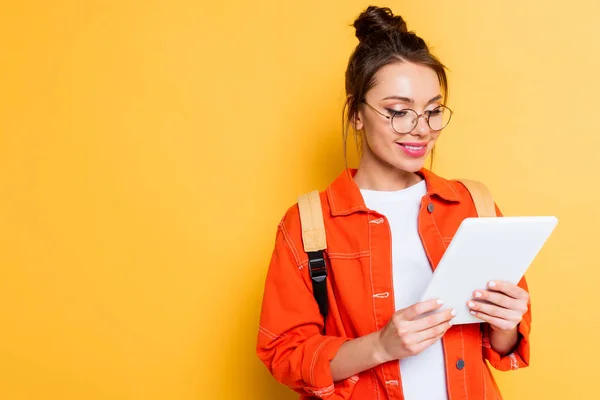
[[[482,322],[470,314],[473,291],[491,280],[517,284],[554,230],[556,217],[467,218],[446,249],[421,300],[456,309],[453,325]]]

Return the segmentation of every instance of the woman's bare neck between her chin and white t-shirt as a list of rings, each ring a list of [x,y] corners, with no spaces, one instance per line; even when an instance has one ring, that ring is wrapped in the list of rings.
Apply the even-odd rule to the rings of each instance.
[[[413,186],[423,178],[414,173],[392,166],[373,165],[360,161],[354,181],[360,189],[378,191],[396,191]]]

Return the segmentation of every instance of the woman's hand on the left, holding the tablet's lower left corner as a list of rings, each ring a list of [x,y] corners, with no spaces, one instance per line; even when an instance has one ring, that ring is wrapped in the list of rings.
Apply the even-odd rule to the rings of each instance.
[[[442,306],[428,300],[396,311],[390,322],[379,331],[377,349],[381,363],[419,354],[439,340],[452,325],[455,310],[444,310],[422,317]],[[421,318],[419,318],[421,317]]]

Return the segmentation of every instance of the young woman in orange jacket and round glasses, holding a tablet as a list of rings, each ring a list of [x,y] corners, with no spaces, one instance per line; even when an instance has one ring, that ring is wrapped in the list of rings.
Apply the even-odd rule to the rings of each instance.
[[[320,197],[329,314],[313,297],[294,206],[277,231],[258,356],[306,399],[499,399],[486,360],[529,364],[525,280],[474,288],[465,307],[481,324],[452,326],[453,310],[436,311],[443,299],[418,302],[461,221],[477,215],[464,186],[424,168],[452,114],[444,66],[388,8],[369,7],[354,27],[344,141],[351,126],[362,154]]]

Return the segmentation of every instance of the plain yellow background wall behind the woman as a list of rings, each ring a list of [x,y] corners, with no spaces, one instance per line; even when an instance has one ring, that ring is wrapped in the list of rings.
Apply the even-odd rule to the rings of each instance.
[[[600,6],[382,4],[451,70],[435,171],[560,218],[506,399],[598,398]],[[295,397],[254,355],[262,285],[286,208],[344,166],[367,5],[2,3],[0,399]]]

